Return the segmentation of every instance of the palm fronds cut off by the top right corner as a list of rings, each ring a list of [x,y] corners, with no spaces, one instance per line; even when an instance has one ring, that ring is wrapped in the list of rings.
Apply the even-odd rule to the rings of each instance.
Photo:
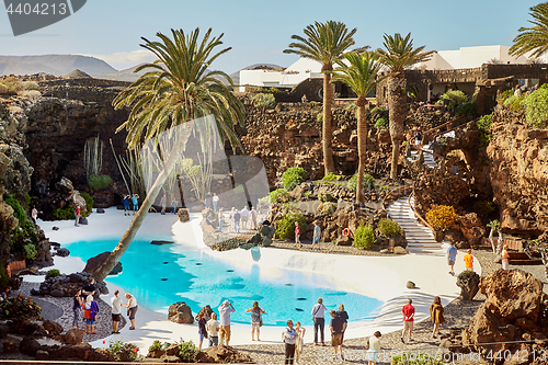
[[[532,52],[533,57],[540,57],[548,50],[548,2],[539,3],[529,10],[534,21],[528,22],[534,26],[520,28],[520,34],[509,50],[512,56],[520,57]]]

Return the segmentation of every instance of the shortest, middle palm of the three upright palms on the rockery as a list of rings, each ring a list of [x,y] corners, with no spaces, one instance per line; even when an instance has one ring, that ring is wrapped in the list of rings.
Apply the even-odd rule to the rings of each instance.
[[[350,52],[344,55],[347,65],[342,61],[336,64],[340,68],[335,69],[335,76],[331,80],[342,81],[346,83],[357,95],[357,151],[359,156],[359,164],[357,168],[357,186],[356,186],[356,202],[365,204],[364,194],[364,173],[365,173],[365,153],[367,147],[367,116],[365,113],[365,104],[367,100],[365,96],[372,91],[383,78],[377,78],[383,65],[379,62],[379,54],[376,52]]]

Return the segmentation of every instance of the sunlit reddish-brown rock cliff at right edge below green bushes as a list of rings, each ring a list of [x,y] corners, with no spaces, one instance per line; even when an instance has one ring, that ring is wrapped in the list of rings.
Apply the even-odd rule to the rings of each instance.
[[[548,130],[534,129],[523,111],[493,113],[487,153],[502,227],[516,233],[548,230]]]

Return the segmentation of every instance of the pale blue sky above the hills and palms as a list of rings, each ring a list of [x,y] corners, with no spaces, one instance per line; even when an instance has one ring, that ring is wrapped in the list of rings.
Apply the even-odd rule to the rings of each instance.
[[[2,0],[0,0],[2,2]],[[293,34],[315,21],[335,20],[357,27],[357,46],[381,47],[383,34],[411,32],[415,46],[446,50],[466,46],[512,45],[527,26],[529,8],[540,1],[187,1],[88,0],[72,16],[33,33],[13,36],[0,4],[0,54],[82,54],[105,59],[116,69],[150,61],[140,37],[155,39],[170,28],[199,27],[225,33],[232,50],[213,65],[226,72],[269,62],[289,66],[297,56],[283,49]]]

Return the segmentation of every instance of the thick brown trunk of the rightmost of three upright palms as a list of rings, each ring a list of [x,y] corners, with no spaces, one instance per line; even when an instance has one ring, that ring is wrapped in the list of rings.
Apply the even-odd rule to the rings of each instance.
[[[403,123],[407,116],[406,76],[403,72],[388,78],[388,104],[390,118],[390,138],[392,139],[392,161],[390,178],[398,178],[400,146],[403,140]]]

